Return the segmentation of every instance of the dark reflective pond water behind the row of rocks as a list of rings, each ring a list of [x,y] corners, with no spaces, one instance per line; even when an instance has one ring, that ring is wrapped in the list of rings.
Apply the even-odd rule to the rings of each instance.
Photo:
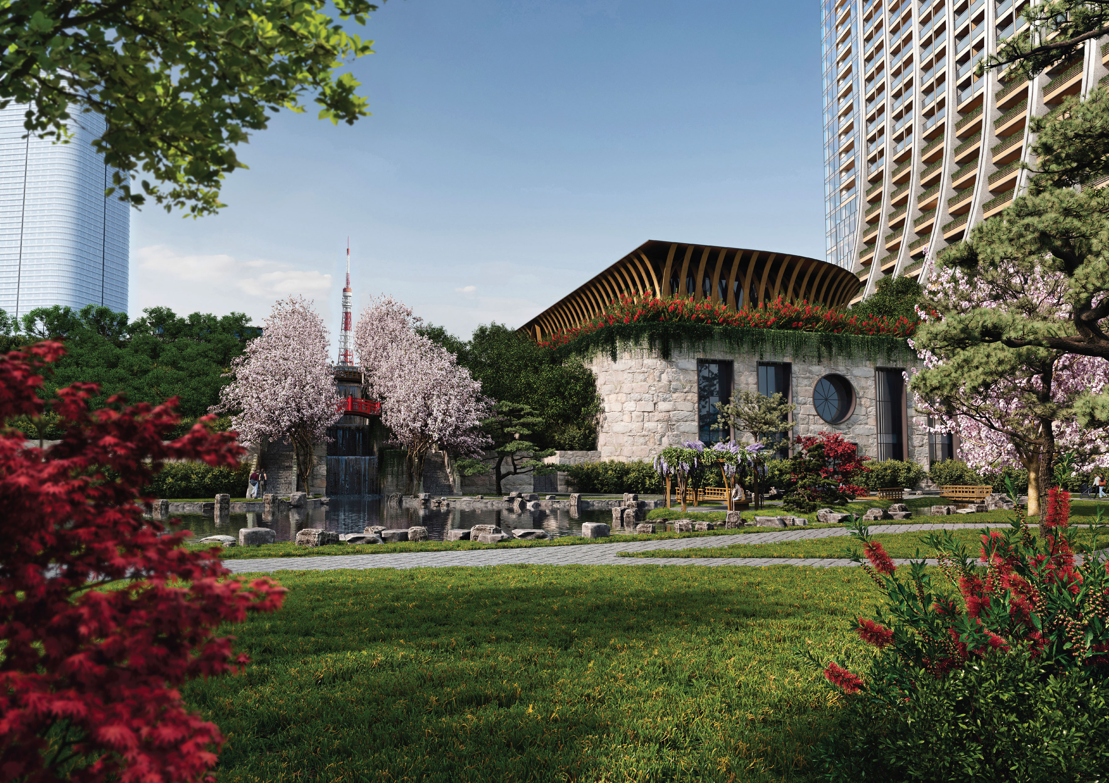
[[[447,530],[452,528],[470,528],[474,525],[497,525],[507,528],[538,527],[551,536],[581,535],[581,525],[586,522],[610,523],[612,512],[609,509],[582,511],[550,509],[522,511],[475,509],[465,507],[449,508],[404,508],[390,506],[380,496],[333,497],[330,504],[323,508],[307,511],[289,508],[285,513],[275,513],[275,518],[266,518],[265,514],[230,514],[181,515],[182,527],[192,530],[197,538],[214,535],[237,535],[243,527],[271,527],[277,534],[277,540],[287,542],[296,538],[296,532],[306,527],[322,527],[336,533],[362,533],[367,525],[383,525],[389,529],[399,529],[420,525],[427,528],[433,540],[446,538]]]

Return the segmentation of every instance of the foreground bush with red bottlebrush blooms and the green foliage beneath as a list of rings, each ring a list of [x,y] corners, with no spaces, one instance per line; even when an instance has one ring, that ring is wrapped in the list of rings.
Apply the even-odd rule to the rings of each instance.
[[[1009,528],[981,532],[974,558],[949,532],[933,534],[939,579],[923,560],[897,567],[856,525],[856,560],[886,600],[853,624],[876,650],[864,676],[810,657],[849,694],[815,754],[827,780],[1109,774],[1109,566],[1068,519],[1056,487],[1039,536],[1015,514]]]

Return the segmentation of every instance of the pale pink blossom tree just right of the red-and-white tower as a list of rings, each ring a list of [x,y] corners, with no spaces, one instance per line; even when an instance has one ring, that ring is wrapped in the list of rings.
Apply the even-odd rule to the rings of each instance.
[[[455,354],[414,331],[419,322],[411,308],[379,297],[362,311],[354,334],[364,382],[381,403],[381,422],[405,445],[413,494],[434,445],[470,459],[492,445],[480,430],[492,401]]]

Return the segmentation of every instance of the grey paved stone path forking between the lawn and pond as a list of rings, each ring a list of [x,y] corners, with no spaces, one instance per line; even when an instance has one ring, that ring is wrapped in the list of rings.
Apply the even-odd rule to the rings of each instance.
[[[923,533],[928,530],[980,529],[1007,527],[1006,523],[939,523],[915,525],[873,525],[872,533]],[[256,560],[224,560],[224,566],[236,574],[275,570],[335,570],[339,568],[447,568],[450,566],[508,566],[527,564],[537,566],[811,566],[814,568],[849,567],[857,565],[845,558],[780,557],[619,557],[620,552],[648,549],[690,549],[718,547],[732,544],[771,544],[801,538],[832,538],[846,536],[844,527],[806,529],[792,527],[769,533],[746,533],[729,536],[698,538],[668,538],[647,542],[617,542],[614,544],[579,544],[567,546],[539,546],[519,549],[459,549],[456,552],[403,552],[389,555],[333,555],[321,557],[268,557]],[[907,559],[894,560],[898,565]],[[935,560],[928,560],[934,564]]]

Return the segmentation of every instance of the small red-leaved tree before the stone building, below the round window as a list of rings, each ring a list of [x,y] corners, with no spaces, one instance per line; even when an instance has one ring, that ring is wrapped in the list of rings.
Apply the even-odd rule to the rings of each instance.
[[[782,507],[812,512],[821,505],[841,506],[866,490],[852,481],[869,468],[871,459],[858,453],[838,432],[820,432],[796,440],[796,453],[790,457],[791,486]]]

